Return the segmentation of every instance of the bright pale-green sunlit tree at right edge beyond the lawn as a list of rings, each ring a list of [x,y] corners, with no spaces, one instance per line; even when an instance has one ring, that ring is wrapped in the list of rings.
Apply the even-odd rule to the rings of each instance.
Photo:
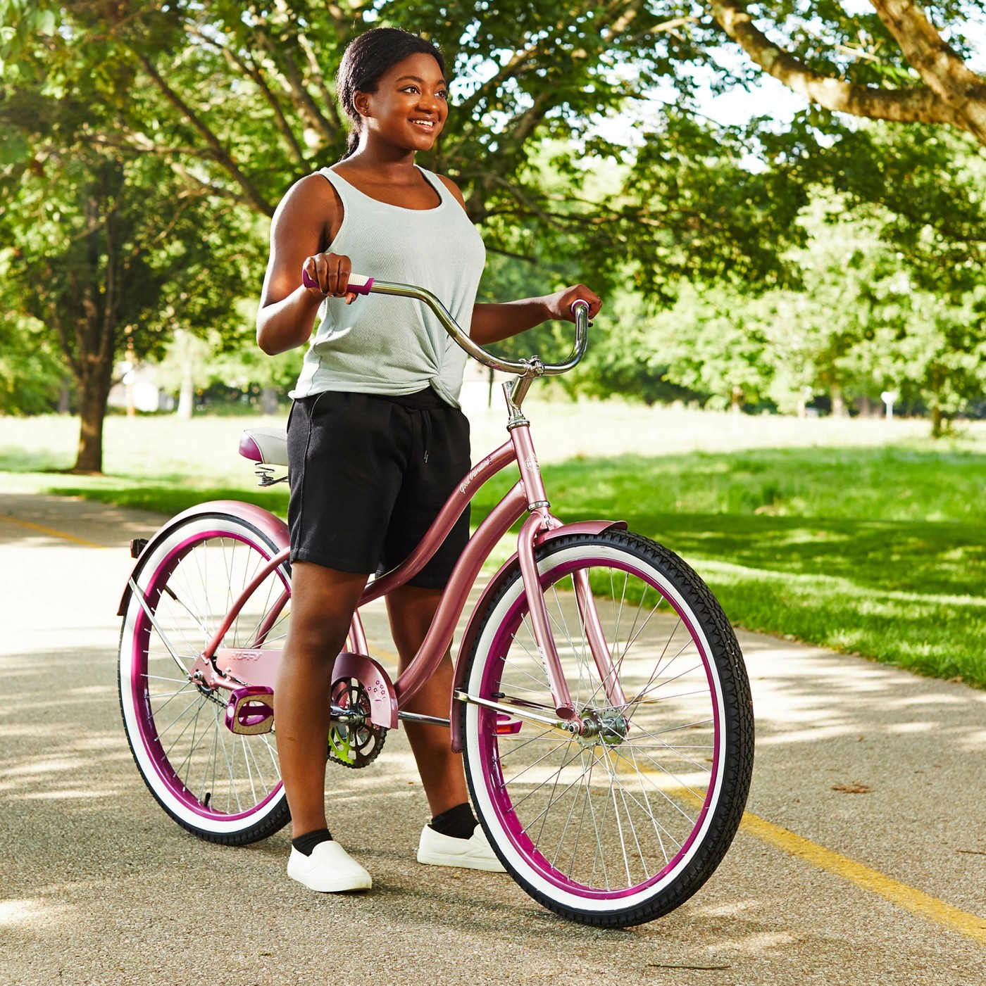
[[[986,293],[923,288],[907,258],[880,240],[881,222],[819,199],[805,219],[810,245],[793,258],[798,290],[683,292],[650,322],[652,359],[668,362],[669,381],[721,404],[768,397],[802,410],[821,395],[840,414],[848,400],[900,389],[928,408],[932,434],[943,434],[986,390]]]

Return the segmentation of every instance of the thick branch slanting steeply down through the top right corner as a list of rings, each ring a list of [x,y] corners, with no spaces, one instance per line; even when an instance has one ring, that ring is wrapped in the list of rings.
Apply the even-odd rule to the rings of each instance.
[[[986,81],[966,66],[911,0],[870,2],[904,57],[961,120],[958,125],[986,144]]]

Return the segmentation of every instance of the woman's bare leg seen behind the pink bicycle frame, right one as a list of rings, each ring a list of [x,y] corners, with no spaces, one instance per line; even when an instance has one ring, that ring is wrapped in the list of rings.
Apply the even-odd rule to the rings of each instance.
[[[387,597],[391,633],[402,671],[417,654],[440,599],[440,589],[420,589],[417,586],[402,586]],[[451,692],[452,658],[446,653],[438,669],[411,702],[408,711],[447,719]],[[462,754],[452,752],[448,730],[444,726],[423,726],[420,723],[405,723],[405,726],[432,817],[468,802]]]

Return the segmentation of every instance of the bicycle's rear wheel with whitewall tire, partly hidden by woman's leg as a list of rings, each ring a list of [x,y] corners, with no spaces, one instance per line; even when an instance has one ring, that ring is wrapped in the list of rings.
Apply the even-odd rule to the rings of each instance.
[[[187,518],[151,545],[135,580],[183,664],[190,668],[232,601],[280,547],[241,518],[218,513]],[[289,575],[281,565],[265,578],[222,646],[251,646],[260,618],[289,593]],[[261,646],[282,645],[289,608],[289,601],[282,605]],[[118,683],[137,769],[183,828],[209,842],[246,845],[290,820],[274,733],[232,734],[224,723],[228,695],[183,678],[135,594],[120,629]]]

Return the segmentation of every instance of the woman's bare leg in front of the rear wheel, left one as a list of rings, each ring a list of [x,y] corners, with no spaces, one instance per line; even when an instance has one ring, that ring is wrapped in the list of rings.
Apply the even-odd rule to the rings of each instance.
[[[329,827],[325,808],[329,688],[336,655],[345,644],[366,579],[311,562],[299,561],[291,567],[291,619],[274,683],[274,721],[295,838]]]

